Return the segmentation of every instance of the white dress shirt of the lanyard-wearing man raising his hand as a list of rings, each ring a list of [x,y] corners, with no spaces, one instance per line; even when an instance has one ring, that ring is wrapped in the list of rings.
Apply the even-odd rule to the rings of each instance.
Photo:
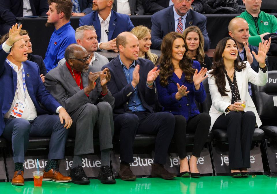
[[[6,44],[6,42],[4,42],[2,44],[2,48],[6,53],[10,53],[10,49],[12,48],[11,46],[8,46]],[[18,100],[24,102],[24,90],[23,90],[23,76],[22,76],[22,68],[23,68],[23,64],[21,63],[20,68],[18,69],[18,66],[15,65],[14,63],[12,63],[10,61],[13,70],[17,73],[17,85],[16,87],[18,88]],[[17,95],[15,93],[14,95],[14,100],[12,101],[12,105],[10,110],[5,114],[4,118],[10,118],[10,114],[12,112],[12,109],[14,107],[14,104],[17,100]],[[28,89],[27,89],[27,85],[26,85],[26,99],[25,99],[25,103],[26,103],[26,107],[23,111],[23,114],[21,116],[21,118],[26,119],[26,120],[34,120],[37,117],[37,110],[35,109],[35,105],[28,93]],[[56,110],[57,113],[59,113],[59,109],[63,108],[62,106],[59,106]]]

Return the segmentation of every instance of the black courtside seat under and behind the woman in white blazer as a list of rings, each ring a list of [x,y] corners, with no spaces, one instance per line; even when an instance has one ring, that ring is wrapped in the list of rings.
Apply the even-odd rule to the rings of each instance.
[[[209,113],[209,110],[212,106],[212,98],[211,98],[211,94],[209,92],[209,84],[208,84],[207,79],[205,79],[203,81],[203,85],[204,85],[204,88],[205,88],[205,91],[206,91],[206,94],[207,94],[207,97],[206,97],[205,101],[203,102],[203,112]],[[219,141],[219,142],[227,142],[228,141],[226,130],[213,129],[212,133],[214,135],[214,140]],[[262,141],[264,139],[265,139],[264,131],[259,129],[259,128],[256,128],[255,131],[254,131],[252,141]]]

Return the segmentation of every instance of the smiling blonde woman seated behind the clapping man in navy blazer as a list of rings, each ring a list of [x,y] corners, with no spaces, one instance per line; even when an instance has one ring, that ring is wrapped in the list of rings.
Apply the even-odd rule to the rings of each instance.
[[[151,30],[145,26],[134,27],[131,31],[139,39],[139,57],[149,59],[154,64],[158,61],[158,55],[151,53]]]

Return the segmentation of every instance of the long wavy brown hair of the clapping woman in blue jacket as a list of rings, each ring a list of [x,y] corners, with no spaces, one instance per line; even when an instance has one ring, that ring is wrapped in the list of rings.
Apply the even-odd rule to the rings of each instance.
[[[171,61],[172,46],[175,39],[181,38],[185,42],[185,38],[177,32],[170,32],[164,36],[161,45],[161,56],[159,60],[160,65],[160,83],[162,86],[167,85],[167,80],[173,74],[173,64]],[[185,79],[188,82],[192,82],[192,76],[195,69],[192,68],[192,60],[184,54],[183,59],[179,62],[180,69],[185,74]]]

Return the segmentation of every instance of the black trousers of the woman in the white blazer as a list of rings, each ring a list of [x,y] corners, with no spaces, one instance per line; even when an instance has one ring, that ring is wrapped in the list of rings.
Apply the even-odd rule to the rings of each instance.
[[[227,130],[229,143],[229,170],[250,168],[250,147],[255,130],[256,116],[254,112],[230,111],[222,114],[212,129]]]

